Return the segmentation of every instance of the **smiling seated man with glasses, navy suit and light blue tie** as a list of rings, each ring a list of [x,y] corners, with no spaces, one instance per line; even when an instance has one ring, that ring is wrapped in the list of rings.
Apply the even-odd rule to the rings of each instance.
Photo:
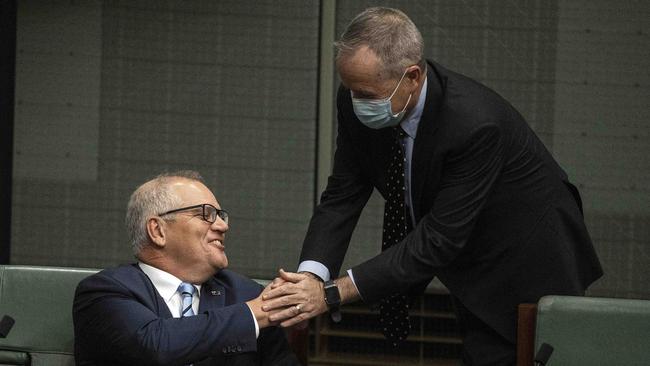
[[[261,311],[261,287],[225,269],[228,213],[198,173],[141,185],[126,225],[138,263],[77,288],[77,365],[298,364]]]

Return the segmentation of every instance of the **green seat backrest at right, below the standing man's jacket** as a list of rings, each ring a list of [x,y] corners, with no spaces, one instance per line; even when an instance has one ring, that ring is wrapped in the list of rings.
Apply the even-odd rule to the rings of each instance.
[[[545,296],[535,349],[554,348],[548,366],[650,365],[650,301]]]

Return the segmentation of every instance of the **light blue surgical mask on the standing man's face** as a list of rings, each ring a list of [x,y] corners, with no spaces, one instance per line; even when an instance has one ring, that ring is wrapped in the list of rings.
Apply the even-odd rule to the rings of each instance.
[[[390,105],[390,100],[393,98],[399,85],[402,83],[406,71],[402,74],[402,77],[399,79],[395,90],[391,95],[386,99],[359,99],[352,97],[352,107],[354,108],[354,114],[357,115],[359,121],[364,125],[373,128],[379,129],[384,127],[393,127],[397,126],[402,118],[404,118],[404,113],[406,112],[406,106],[411,101],[412,94],[409,94],[409,99],[406,101],[404,108],[397,114],[393,114],[393,110]]]

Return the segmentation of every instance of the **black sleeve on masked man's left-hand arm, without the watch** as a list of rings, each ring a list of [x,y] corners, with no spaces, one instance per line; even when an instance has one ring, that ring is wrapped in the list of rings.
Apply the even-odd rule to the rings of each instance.
[[[339,90],[339,104],[342,91]],[[334,167],[309,223],[300,254],[300,261],[314,260],[324,264],[336,277],[348,249],[350,238],[373,186],[363,176],[355,142],[345,128],[346,121],[338,113],[338,136]]]

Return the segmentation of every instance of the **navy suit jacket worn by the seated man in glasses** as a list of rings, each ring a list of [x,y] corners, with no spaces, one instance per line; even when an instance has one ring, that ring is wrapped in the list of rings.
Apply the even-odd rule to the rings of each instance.
[[[73,319],[77,365],[297,365],[281,329],[260,330],[252,280],[222,270],[201,286],[199,313],[173,318],[138,265],[81,281]]]

